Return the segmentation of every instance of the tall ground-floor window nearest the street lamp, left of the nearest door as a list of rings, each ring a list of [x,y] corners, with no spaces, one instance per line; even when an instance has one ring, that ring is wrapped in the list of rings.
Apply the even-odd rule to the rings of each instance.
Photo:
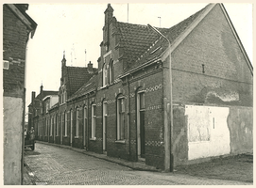
[[[125,98],[117,99],[117,140],[125,139]]]

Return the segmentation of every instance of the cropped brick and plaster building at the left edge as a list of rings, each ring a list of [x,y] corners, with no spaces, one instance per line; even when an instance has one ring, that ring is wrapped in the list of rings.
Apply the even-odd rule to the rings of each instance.
[[[28,4],[3,5],[4,184],[23,182],[26,44],[37,24]]]

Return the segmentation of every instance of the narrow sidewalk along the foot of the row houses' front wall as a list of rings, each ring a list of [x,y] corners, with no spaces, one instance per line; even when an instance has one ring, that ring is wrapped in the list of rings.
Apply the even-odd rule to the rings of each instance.
[[[76,149],[76,148],[73,148],[71,146],[53,144],[53,143],[42,142],[42,141],[36,141],[36,142],[40,143],[40,144],[44,144],[44,145],[51,145],[51,146],[63,148],[63,149],[75,150],[79,153],[83,153],[83,154],[86,154],[86,155],[89,155],[89,156],[93,156],[93,157],[96,157],[98,159],[103,159],[103,160],[108,161],[108,162],[112,162],[112,163],[115,163],[115,164],[120,164],[120,165],[123,165],[123,166],[127,166],[127,167],[129,167],[133,170],[161,172],[161,169],[157,169],[154,166],[146,165],[145,162],[129,162],[129,161],[124,160],[124,159],[118,159],[118,158],[110,157],[110,156],[107,156],[106,154],[94,153],[92,151],[87,151],[85,149]]]

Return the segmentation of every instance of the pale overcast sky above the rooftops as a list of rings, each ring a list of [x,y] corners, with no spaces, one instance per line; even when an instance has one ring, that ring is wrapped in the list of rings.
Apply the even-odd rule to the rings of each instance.
[[[171,27],[207,4],[111,4],[119,22]],[[252,61],[252,6],[225,4],[239,38]],[[26,13],[38,24],[29,39],[26,64],[26,111],[31,91],[59,90],[61,59],[67,65],[83,67],[92,61],[97,67],[99,44],[103,39],[104,11],[101,4],[32,4]],[[160,18],[161,17],[161,20]],[[85,54],[86,50],[86,54]]]

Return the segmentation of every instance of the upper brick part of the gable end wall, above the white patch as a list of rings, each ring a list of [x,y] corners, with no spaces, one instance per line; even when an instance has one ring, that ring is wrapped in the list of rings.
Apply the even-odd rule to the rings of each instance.
[[[179,44],[172,66],[174,101],[252,106],[252,74],[219,6]]]

